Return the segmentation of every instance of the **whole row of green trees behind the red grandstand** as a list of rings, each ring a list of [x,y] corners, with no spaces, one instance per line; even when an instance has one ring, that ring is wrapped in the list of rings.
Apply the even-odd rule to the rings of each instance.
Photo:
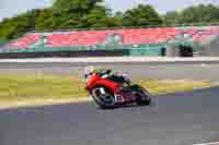
[[[34,9],[0,23],[0,38],[14,39],[30,31],[139,27],[219,22],[219,7],[199,4],[181,12],[161,15],[150,4],[139,4],[125,12],[113,12],[103,0],[55,0],[46,9]]]

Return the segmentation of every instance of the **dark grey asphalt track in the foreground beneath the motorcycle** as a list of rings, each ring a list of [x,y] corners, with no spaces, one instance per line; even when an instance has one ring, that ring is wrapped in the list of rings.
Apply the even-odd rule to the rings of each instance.
[[[0,145],[192,145],[219,141],[219,88],[159,96],[155,106],[92,104],[0,111]]]

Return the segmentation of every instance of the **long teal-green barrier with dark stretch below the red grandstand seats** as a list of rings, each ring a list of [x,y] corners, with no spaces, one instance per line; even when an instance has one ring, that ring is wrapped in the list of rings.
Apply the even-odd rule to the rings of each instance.
[[[151,45],[97,45],[93,47],[34,47],[4,49],[0,59],[10,58],[51,58],[51,57],[123,57],[123,56],[161,56],[163,44]]]

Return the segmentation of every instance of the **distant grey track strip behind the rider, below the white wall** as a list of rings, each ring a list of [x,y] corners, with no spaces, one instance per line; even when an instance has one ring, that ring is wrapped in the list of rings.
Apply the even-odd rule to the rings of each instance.
[[[83,68],[99,65],[116,69],[132,77],[193,78],[219,81],[219,63],[0,63],[0,72],[53,73],[82,76]]]

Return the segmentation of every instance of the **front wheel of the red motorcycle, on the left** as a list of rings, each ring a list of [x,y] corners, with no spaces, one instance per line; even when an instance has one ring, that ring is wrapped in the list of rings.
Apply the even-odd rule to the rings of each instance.
[[[94,102],[102,109],[115,107],[115,97],[106,87],[95,87],[92,89]]]

